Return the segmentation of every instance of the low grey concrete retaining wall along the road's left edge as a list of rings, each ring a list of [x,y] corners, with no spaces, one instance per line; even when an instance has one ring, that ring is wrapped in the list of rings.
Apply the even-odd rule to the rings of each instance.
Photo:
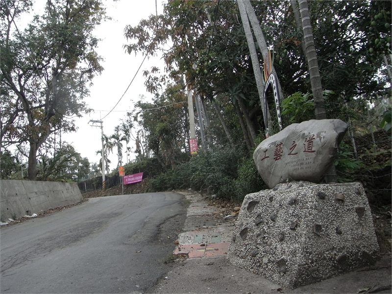
[[[77,184],[0,180],[1,220],[23,217],[83,199]]]

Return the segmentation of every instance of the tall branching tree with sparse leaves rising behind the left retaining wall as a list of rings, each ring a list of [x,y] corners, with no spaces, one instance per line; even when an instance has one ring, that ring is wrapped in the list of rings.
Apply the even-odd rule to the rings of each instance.
[[[87,111],[83,98],[102,71],[93,29],[105,11],[100,0],[47,0],[44,14],[22,31],[15,25],[20,5],[0,5],[1,143],[28,144],[28,178],[35,180],[49,135],[75,131],[73,117]]]

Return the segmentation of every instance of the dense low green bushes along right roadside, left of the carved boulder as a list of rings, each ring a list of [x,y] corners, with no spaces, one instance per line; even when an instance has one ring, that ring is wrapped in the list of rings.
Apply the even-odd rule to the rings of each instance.
[[[174,170],[151,179],[151,191],[192,188],[240,201],[248,193],[267,188],[246,153],[230,147],[199,152]]]

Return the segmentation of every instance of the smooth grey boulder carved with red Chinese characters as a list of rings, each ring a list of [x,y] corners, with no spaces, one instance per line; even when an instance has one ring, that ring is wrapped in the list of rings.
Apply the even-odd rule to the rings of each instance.
[[[257,170],[270,189],[287,180],[318,183],[332,166],[346,130],[341,120],[291,124],[256,148]]]

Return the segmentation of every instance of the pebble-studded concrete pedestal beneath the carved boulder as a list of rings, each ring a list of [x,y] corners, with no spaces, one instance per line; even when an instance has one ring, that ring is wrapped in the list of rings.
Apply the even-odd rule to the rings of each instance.
[[[298,181],[245,196],[228,258],[296,288],[372,264],[378,256],[360,183]]]

